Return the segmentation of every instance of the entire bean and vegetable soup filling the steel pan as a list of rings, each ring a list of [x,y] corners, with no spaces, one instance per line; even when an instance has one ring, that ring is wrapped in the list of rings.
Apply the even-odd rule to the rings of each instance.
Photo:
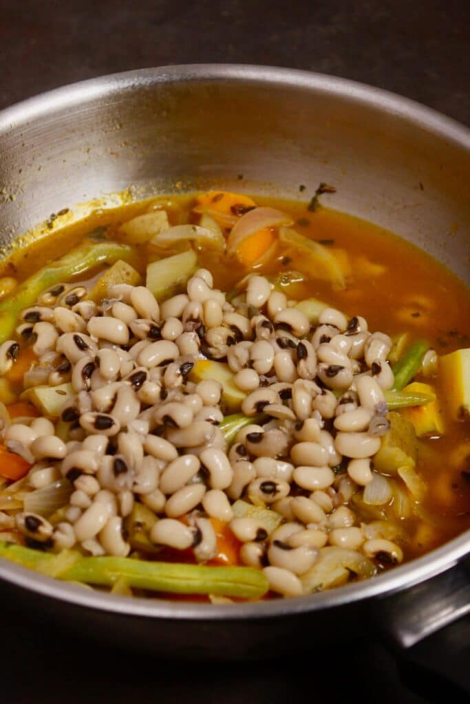
[[[328,189],[62,212],[4,260],[1,558],[253,601],[470,527],[469,291]]]

